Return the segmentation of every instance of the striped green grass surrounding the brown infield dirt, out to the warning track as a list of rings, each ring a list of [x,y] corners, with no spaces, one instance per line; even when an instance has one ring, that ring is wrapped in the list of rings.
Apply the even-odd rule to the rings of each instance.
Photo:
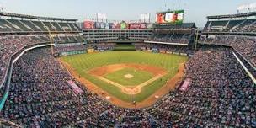
[[[61,60],[69,63],[81,77],[88,79],[90,82],[99,86],[99,88],[104,89],[108,93],[111,93],[116,98],[126,102],[131,102],[132,100],[141,102],[157,91],[158,88],[161,88],[170,77],[173,77],[178,72],[179,63],[187,61],[188,57],[161,53],[148,53],[144,51],[106,51],[93,54],[62,56]],[[87,73],[90,69],[95,67],[120,63],[148,64],[163,67],[168,71],[168,74],[162,77],[162,81],[157,79],[156,81],[141,88],[141,93],[131,96],[122,93],[120,88],[109,83],[105,83],[104,81],[101,81]],[[133,99],[131,99],[131,97]]]

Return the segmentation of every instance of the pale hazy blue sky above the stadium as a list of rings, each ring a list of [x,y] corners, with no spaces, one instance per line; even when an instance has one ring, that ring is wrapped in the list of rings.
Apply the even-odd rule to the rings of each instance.
[[[206,16],[237,13],[237,6],[256,0],[0,0],[4,12],[83,21],[106,13],[109,20],[138,20],[140,14],[184,9],[184,22],[203,27]]]

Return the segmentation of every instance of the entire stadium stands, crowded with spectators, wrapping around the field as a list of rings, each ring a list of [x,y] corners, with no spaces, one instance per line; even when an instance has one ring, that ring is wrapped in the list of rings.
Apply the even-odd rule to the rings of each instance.
[[[93,34],[89,45],[83,41],[90,30],[80,29],[76,19],[0,15],[37,19],[0,19],[3,127],[256,127],[256,19],[247,19],[248,13],[210,16],[220,20],[209,20],[201,36],[195,24],[156,25],[140,37]],[[237,20],[241,16],[244,19]],[[115,43],[98,41],[131,38],[140,40],[133,44],[137,51],[190,56],[184,80],[148,108],[109,104],[77,82],[51,54],[111,51]]]

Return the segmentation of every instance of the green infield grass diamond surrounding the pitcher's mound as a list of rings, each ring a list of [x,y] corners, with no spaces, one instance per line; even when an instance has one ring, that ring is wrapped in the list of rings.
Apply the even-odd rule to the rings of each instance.
[[[126,78],[126,74],[131,74],[133,77]],[[134,86],[146,82],[147,80],[154,77],[154,75],[152,72],[146,72],[126,67],[116,72],[109,72],[108,74],[105,74],[104,77],[124,86]]]

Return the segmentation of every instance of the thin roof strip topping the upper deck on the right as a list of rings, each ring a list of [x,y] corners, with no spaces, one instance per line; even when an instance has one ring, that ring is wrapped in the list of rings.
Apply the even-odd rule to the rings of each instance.
[[[207,16],[207,19],[229,19],[256,16],[256,12]]]

